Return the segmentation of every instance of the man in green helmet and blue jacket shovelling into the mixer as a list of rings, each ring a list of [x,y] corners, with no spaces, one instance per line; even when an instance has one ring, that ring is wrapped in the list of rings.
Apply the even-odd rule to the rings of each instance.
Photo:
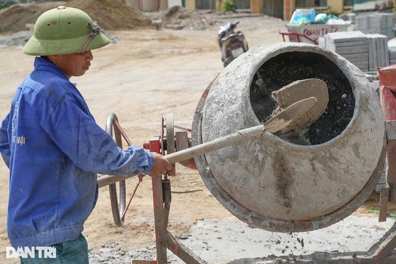
[[[23,48],[37,57],[0,127],[0,152],[10,169],[7,233],[24,264],[88,263],[81,232],[97,201],[97,174],[160,176],[172,168],[157,153],[117,147],[69,81],[89,69],[91,50],[109,43],[85,12],[58,7],[38,18]]]

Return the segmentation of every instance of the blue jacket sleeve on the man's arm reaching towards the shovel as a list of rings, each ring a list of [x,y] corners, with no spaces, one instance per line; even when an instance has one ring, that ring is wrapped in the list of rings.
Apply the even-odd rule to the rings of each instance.
[[[154,166],[153,156],[145,149],[137,145],[126,150],[119,148],[114,139],[95,122],[85,101],[76,95],[61,98],[44,129],[83,171],[128,176],[150,174]]]

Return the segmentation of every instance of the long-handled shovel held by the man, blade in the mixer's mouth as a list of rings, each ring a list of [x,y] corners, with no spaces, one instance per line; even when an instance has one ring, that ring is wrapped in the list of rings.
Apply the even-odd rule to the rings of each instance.
[[[219,150],[224,147],[239,144],[248,139],[262,135],[266,132],[275,133],[276,131],[279,131],[282,128],[289,125],[295,118],[300,117],[305,112],[307,112],[308,109],[310,109],[316,103],[316,101],[317,100],[315,97],[302,99],[290,105],[289,107],[285,108],[279,114],[269,119],[267,122],[265,122],[262,125],[238,130],[231,135],[214,139],[200,145],[196,145],[193,147],[180,150],[178,152],[165,155],[164,158],[167,159],[171,164],[174,164],[197,156],[201,156],[203,154],[212,152],[214,150]],[[99,187],[102,187],[105,185],[109,185],[130,178],[132,176],[134,175],[130,175],[127,177],[109,176],[109,175],[102,176],[98,178],[98,184]]]

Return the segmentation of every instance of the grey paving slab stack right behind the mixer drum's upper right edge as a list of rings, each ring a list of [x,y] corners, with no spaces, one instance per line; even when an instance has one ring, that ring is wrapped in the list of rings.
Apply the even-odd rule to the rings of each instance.
[[[363,72],[375,71],[377,67],[389,66],[387,36],[364,34],[361,31],[328,33],[319,46],[333,51]]]

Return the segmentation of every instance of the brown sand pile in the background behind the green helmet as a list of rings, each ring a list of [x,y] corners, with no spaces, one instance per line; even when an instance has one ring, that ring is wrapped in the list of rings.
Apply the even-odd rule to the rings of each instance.
[[[0,33],[26,30],[26,24],[34,24],[42,13],[58,6],[83,10],[105,30],[133,29],[151,24],[148,17],[119,0],[71,0],[12,5],[0,13]]]

